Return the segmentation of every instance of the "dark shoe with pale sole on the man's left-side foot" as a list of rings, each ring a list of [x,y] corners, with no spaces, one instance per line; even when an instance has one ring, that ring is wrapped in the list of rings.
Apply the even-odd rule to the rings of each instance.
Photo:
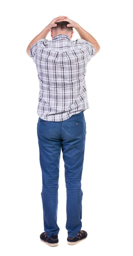
[[[47,237],[46,232],[40,234],[40,240],[49,246],[58,246],[58,235]]]

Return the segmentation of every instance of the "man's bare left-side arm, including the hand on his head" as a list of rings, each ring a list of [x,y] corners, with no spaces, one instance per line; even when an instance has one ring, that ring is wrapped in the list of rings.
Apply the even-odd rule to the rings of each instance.
[[[35,44],[36,42],[38,42],[40,39],[42,38],[46,38],[46,36],[48,35],[49,31],[52,29],[53,26],[57,26],[57,24],[55,24],[55,22],[57,22],[58,20],[63,20],[65,17],[67,16],[59,16],[55,19],[53,19],[49,25],[47,25],[43,31],[41,31],[28,45],[27,49],[26,49],[26,52],[27,54],[30,56],[30,47]]]

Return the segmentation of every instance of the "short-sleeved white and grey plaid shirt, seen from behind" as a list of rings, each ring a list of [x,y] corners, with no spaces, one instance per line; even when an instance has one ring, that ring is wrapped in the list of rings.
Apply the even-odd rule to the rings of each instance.
[[[89,108],[85,74],[87,62],[95,55],[90,42],[58,34],[33,44],[30,55],[38,71],[41,119],[64,121]]]

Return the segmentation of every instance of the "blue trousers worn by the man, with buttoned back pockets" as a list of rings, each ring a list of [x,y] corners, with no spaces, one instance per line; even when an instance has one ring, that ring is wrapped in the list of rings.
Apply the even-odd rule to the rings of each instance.
[[[58,235],[58,180],[61,150],[67,190],[67,223],[69,237],[82,227],[81,176],[84,162],[86,122],[84,111],[69,119],[54,122],[39,117],[37,124],[40,167],[42,170],[42,204],[44,230],[48,237]]]

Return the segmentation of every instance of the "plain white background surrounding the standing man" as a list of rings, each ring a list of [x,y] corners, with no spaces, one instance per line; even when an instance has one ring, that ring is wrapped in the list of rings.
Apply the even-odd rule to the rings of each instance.
[[[67,245],[66,188],[61,153],[59,246],[43,232],[37,138],[39,81],[26,53],[51,20],[67,15],[98,41],[87,65],[90,108],[82,175],[82,229],[88,238]],[[6,1],[0,29],[1,255],[133,256],[133,29],[131,1]],[[80,38],[74,29],[72,40]],[[50,33],[47,36],[50,40]]]

